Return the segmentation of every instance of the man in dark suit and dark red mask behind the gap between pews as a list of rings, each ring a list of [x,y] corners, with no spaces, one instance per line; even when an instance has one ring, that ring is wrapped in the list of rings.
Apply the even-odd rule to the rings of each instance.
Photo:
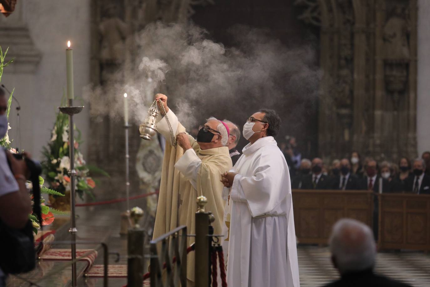
[[[365,164],[366,176],[361,181],[363,190],[371,190],[374,193],[373,198],[373,232],[378,239],[378,216],[379,216],[379,199],[377,194],[390,191],[390,183],[387,179],[378,174],[378,164],[376,160],[369,158]]]

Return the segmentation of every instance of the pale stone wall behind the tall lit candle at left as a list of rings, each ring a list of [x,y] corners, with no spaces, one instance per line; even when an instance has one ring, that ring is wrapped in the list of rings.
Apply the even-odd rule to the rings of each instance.
[[[89,0],[19,0],[12,15],[0,15],[0,46],[9,46],[9,59],[15,62],[4,69],[1,83],[15,88],[21,104],[21,143],[19,142],[16,102],[10,112],[10,138],[13,147],[22,146],[37,159],[51,139],[55,112],[66,87],[65,49],[71,40],[74,49],[75,98],[89,84],[90,1]],[[76,101],[85,105],[85,102]],[[85,140],[81,150],[86,156],[89,109],[76,118]]]

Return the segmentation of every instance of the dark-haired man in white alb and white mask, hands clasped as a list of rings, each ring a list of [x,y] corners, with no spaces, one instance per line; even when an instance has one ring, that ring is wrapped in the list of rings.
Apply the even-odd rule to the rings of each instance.
[[[300,286],[289,170],[274,139],[280,125],[273,110],[249,117],[249,144],[222,175],[228,286]]]

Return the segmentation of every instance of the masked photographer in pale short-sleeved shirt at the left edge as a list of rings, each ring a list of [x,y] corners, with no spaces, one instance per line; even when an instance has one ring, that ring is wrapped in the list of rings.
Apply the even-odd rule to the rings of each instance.
[[[8,128],[6,109],[6,93],[0,87],[0,139],[6,136]],[[25,161],[15,159],[9,151],[0,148],[0,219],[10,228],[22,229],[28,224],[31,213],[31,199],[25,186],[28,176]],[[0,237],[4,235],[3,229]],[[0,268],[0,287],[6,286],[5,281],[5,271]]]

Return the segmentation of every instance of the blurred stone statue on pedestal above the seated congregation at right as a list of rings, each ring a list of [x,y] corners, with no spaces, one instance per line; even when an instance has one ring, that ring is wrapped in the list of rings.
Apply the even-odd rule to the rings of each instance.
[[[396,5],[384,26],[384,50],[386,59],[408,59],[409,25],[402,6]]]

